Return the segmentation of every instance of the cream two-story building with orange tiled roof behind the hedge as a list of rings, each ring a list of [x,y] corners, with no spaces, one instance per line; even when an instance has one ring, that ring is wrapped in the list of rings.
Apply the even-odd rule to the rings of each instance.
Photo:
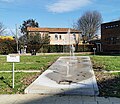
[[[28,35],[34,33],[40,33],[40,35],[49,35],[50,45],[69,45],[69,44],[82,44],[80,41],[81,32],[75,29],[69,28],[27,28]]]

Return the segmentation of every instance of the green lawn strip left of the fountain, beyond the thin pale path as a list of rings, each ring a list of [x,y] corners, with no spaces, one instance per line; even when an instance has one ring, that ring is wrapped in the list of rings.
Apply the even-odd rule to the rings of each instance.
[[[57,55],[21,56],[15,63],[15,70],[43,70],[58,58]],[[6,56],[0,56],[0,71],[12,70],[12,63],[6,62]]]

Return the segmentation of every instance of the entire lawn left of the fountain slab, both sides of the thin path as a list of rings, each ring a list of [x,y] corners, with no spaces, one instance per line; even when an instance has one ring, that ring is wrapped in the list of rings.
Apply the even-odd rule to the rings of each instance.
[[[59,55],[21,56],[15,63],[15,70],[46,70]],[[12,63],[6,62],[6,56],[0,56],[0,71],[12,70]],[[23,93],[40,73],[15,73],[15,88],[12,89],[12,73],[0,73],[0,94]]]

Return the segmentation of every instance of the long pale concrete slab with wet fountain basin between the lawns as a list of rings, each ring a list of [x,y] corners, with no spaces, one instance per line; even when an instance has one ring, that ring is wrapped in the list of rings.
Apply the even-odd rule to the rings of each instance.
[[[25,93],[98,95],[90,57],[60,57],[25,89]]]

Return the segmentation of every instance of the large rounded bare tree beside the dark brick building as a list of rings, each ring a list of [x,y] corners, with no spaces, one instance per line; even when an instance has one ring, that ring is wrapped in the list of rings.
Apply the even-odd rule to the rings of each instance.
[[[102,23],[102,16],[98,11],[87,11],[77,21],[74,27],[82,31],[83,42],[92,39]]]

